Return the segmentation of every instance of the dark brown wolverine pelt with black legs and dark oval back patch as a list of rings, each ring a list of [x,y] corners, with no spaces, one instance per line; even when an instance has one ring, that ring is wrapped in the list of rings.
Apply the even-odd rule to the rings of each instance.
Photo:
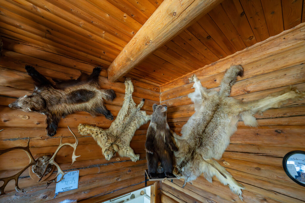
[[[76,80],[53,79],[55,85],[32,66],[26,65],[25,69],[34,80],[33,93],[18,98],[9,107],[45,114],[48,136],[56,134],[61,117],[76,111],[87,111],[91,116],[104,114],[107,119],[113,120],[103,100],[113,100],[116,95],[112,89],[99,89],[100,67],[94,68],[91,75],[82,72]]]

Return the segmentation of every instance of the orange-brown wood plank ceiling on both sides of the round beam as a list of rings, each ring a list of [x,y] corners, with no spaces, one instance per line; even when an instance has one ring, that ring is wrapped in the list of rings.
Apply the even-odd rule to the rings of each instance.
[[[160,3],[162,0],[3,0],[0,33],[106,69]],[[162,86],[305,22],[304,3],[224,0],[127,75]]]

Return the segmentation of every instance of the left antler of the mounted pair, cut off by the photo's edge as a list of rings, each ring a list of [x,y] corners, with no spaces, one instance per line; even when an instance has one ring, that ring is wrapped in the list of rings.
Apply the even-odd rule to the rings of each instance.
[[[3,130],[3,129],[2,129],[2,130]],[[0,130],[0,132],[1,132],[2,130]],[[19,176],[21,175],[21,173],[23,173],[24,170],[26,170],[28,167],[30,167],[30,166],[36,164],[36,161],[35,161],[33,155],[32,155],[31,152],[30,152],[30,145],[29,145],[29,143],[30,143],[30,138],[29,138],[29,140],[27,141],[27,146],[26,146],[26,147],[12,147],[12,148],[9,148],[9,149],[0,150],[0,155],[2,155],[2,154],[4,154],[4,153],[6,153],[6,152],[9,152],[9,151],[12,151],[12,150],[15,150],[15,149],[22,149],[23,151],[25,151],[25,152],[27,153],[27,155],[28,155],[29,158],[30,158],[30,163],[29,163],[27,166],[25,166],[22,170],[20,170],[18,173],[16,173],[16,174],[13,175],[13,176],[10,176],[10,177],[0,178],[0,181],[3,181],[3,185],[0,187],[0,196],[3,195],[3,194],[5,194],[4,188],[5,188],[5,186],[8,184],[8,182],[9,182],[10,180],[15,180],[15,190],[16,190],[17,192],[23,192],[23,189],[21,190],[21,189],[19,188],[19,186],[18,186],[18,178],[19,178]]]

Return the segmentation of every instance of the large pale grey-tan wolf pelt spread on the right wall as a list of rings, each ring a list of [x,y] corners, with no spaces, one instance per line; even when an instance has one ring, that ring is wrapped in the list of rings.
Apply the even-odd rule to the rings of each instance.
[[[257,126],[253,114],[278,108],[288,100],[302,100],[305,97],[304,92],[290,87],[263,99],[242,102],[229,97],[238,75],[243,75],[242,66],[231,65],[224,74],[219,92],[204,88],[196,75],[189,78],[189,82],[194,82],[192,88],[195,88],[195,92],[188,94],[188,97],[194,103],[195,113],[182,127],[181,136],[173,133],[179,149],[174,152],[174,174],[185,179],[183,187],[203,173],[209,182],[216,176],[242,199],[241,190],[244,187],[214,160],[220,159],[228,147],[231,135],[237,130],[237,121],[241,118],[247,126]]]

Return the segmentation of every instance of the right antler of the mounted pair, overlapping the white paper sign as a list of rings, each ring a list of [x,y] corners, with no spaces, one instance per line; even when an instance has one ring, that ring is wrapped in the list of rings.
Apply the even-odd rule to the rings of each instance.
[[[69,126],[68,126],[68,128],[69,128]],[[60,137],[60,144],[59,144],[59,146],[57,147],[57,149],[56,149],[56,151],[54,152],[54,154],[53,154],[53,156],[51,157],[51,159],[48,160],[47,165],[45,166],[45,171],[44,171],[43,174],[41,175],[41,178],[45,175],[45,172],[46,172],[46,170],[47,170],[47,168],[48,168],[48,165],[53,164],[53,165],[56,166],[56,168],[57,168],[57,174],[56,174],[56,176],[55,176],[54,179],[52,179],[52,180],[47,180],[47,187],[48,187],[52,182],[58,183],[58,182],[60,182],[60,181],[62,181],[62,180],[64,179],[63,176],[65,175],[65,172],[63,172],[63,170],[61,170],[60,166],[59,166],[59,165],[55,162],[55,160],[54,160],[54,159],[55,159],[55,156],[57,155],[57,153],[59,152],[59,150],[60,150],[63,146],[69,145],[69,146],[71,146],[71,147],[74,148],[73,154],[72,154],[72,163],[71,163],[70,166],[72,166],[72,164],[74,163],[74,161],[76,160],[76,158],[79,157],[79,156],[76,156],[76,155],[75,155],[75,150],[76,150],[76,147],[77,147],[77,144],[78,144],[78,140],[77,140],[75,134],[71,131],[70,128],[69,128],[69,130],[70,130],[70,132],[72,133],[72,135],[73,135],[74,138],[75,138],[75,143],[74,143],[74,144],[71,144],[71,143],[63,143],[63,142],[62,142],[63,136]],[[70,166],[69,166],[69,167],[70,167]],[[58,176],[59,174],[61,174],[61,178],[60,178],[59,181],[56,182],[56,178],[57,178],[57,176]],[[40,178],[40,180],[41,180],[41,178]],[[39,180],[39,181],[40,181],[40,180]],[[38,181],[38,182],[39,182],[39,181]]]

